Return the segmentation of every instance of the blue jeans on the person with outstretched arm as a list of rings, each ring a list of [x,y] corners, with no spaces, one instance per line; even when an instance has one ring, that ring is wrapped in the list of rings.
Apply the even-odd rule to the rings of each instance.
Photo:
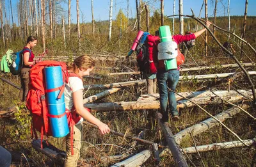
[[[176,86],[179,82],[179,77],[179,70],[157,72],[157,83],[160,94],[160,106],[164,121],[168,121],[167,102],[169,102],[169,108],[172,113],[172,116],[179,115],[179,112],[177,111],[177,101],[175,94],[172,91],[168,91],[168,88],[170,88],[173,91],[176,90]]]

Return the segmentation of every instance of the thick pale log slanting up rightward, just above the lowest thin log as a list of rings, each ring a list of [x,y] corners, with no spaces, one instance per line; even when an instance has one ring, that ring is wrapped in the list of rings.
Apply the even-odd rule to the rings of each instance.
[[[243,109],[247,109],[248,105],[241,106]],[[215,118],[218,118],[221,122],[224,122],[227,118],[230,118],[237,113],[241,112],[241,109],[238,107],[232,107],[230,109],[227,109],[226,111],[223,111],[222,113],[219,113],[218,115],[215,115]],[[189,136],[191,134],[192,136],[196,136],[197,134],[200,134],[201,132],[206,131],[207,129],[210,129],[214,127],[215,125],[219,125],[220,123],[216,122],[214,118],[209,118],[207,120],[204,120],[203,122],[196,123],[195,125],[188,127],[187,129],[184,129],[177,134],[174,135],[175,141],[177,144],[180,144],[182,141],[182,138],[186,138],[186,136]]]

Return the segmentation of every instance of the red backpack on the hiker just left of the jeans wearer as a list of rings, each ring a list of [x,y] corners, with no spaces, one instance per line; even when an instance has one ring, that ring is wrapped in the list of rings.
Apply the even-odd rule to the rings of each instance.
[[[145,40],[146,54],[145,63],[147,63],[147,71],[150,74],[156,74],[157,69],[153,61],[154,55],[157,56],[157,45],[159,44],[159,36],[148,35]]]

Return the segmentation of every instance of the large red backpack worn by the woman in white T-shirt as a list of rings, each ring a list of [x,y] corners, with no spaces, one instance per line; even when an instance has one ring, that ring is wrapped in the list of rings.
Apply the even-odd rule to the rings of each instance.
[[[45,87],[45,77],[44,77],[44,68],[45,67],[53,67],[60,66],[62,70],[63,76],[63,85],[59,88],[54,88],[51,90],[46,90]],[[33,68],[31,68],[29,72],[29,91],[26,100],[26,106],[29,111],[31,111],[32,122],[31,122],[31,134],[33,138],[33,134],[35,134],[35,138],[37,139],[36,131],[41,132],[41,148],[43,148],[42,141],[45,136],[52,136],[51,125],[49,122],[49,117],[52,118],[60,118],[63,115],[53,116],[49,114],[47,107],[47,98],[46,93],[52,91],[60,91],[58,97],[64,92],[65,84],[68,83],[68,77],[78,77],[74,73],[67,72],[66,63],[60,61],[41,61],[37,63]],[[68,127],[70,127],[70,140],[71,140],[71,152],[73,152],[73,133],[74,133],[74,125],[81,119],[81,116],[77,115],[76,111],[72,109],[72,111],[68,111],[66,109],[65,114],[68,119]],[[64,114],[64,115],[65,115]]]

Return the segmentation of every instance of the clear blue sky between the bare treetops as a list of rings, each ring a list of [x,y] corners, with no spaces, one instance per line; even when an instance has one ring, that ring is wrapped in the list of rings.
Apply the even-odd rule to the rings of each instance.
[[[7,9],[7,15],[8,15],[8,13],[10,13],[10,10],[8,10],[10,0],[5,0],[5,1],[6,1],[6,9]],[[17,5],[16,5],[17,1],[19,0],[12,0],[13,13],[17,12]],[[67,20],[67,13],[68,13],[67,1],[68,0],[63,0],[63,1],[66,1],[66,2],[62,2],[61,7],[64,8],[64,10],[66,10],[63,13],[63,15]],[[153,10],[160,8],[160,0],[158,0],[155,3],[154,3],[154,0],[147,0],[147,1],[148,1],[148,4],[150,5],[151,12]],[[214,4],[211,3],[212,0],[208,0],[208,1],[209,1],[208,16],[211,17],[213,16]],[[92,0],[79,0],[80,22],[82,22],[83,20],[84,22],[92,21],[91,2]],[[191,15],[190,8],[192,8],[193,11],[195,12],[195,15],[198,16],[200,12],[200,8],[202,6],[202,2],[203,0],[183,0],[184,15]],[[228,0],[218,0],[218,9],[217,9],[218,16],[222,16],[222,15],[227,16],[227,2]],[[110,0],[93,0],[94,19],[96,21],[109,19],[109,4],[110,4]],[[255,0],[250,0],[248,2],[247,15],[256,16],[255,6],[256,6]],[[230,15],[244,15],[244,8],[245,8],[245,0],[230,0]],[[122,9],[125,15],[127,15],[127,0],[113,0],[113,19],[116,18],[116,14],[120,9]],[[177,14],[178,12],[179,12],[179,0],[176,0],[175,13]],[[165,0],[164,15],[172,15],[172,13],[173,13],[173,0]],[[76,0],[72,0],[71,15],[72,15],[71,16],[72,22],[76,23]],[[82,15],[84,18],[82,18]],[[135,17],[135,16],[136,16],[135,0],[129,0],[129,17]],[[204,17],[204,8],[202,10],[201,16]],[[14,18],[17,19],[17,16]]]

